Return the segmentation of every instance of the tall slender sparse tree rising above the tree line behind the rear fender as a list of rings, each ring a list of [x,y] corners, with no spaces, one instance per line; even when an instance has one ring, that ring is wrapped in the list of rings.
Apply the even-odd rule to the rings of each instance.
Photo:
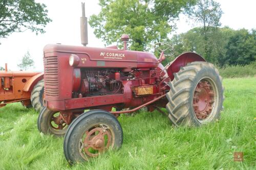
[[[199,27],[202,27],[201,34],[204,38],[203,56],[206,59],[210,59],[210,53],[212,53],[211,39],[213,36],[218,34],[218,27],[221,26],[220,18],[222,10],[220,4],[214,0],[199,0],[197,5],[188,10],[189,18],[193,19],[198,23]]]

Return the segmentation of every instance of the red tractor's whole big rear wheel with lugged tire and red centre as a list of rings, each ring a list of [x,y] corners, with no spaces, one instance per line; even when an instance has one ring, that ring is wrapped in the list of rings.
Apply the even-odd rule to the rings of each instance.
[[[189,63],[174,74],[169,86],[166,109],[173,125],[200,126],[220,118],[224,88],[213,64]]]

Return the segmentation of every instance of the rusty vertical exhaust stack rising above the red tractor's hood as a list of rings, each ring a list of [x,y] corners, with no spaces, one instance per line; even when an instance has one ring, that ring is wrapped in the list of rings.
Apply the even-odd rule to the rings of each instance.
[[[84,9],[84,3],[82,3],[82,16],[80,17],[80,31],[81,31],[81,44],[86,46],[88,44],[88,27],[86,10]]]

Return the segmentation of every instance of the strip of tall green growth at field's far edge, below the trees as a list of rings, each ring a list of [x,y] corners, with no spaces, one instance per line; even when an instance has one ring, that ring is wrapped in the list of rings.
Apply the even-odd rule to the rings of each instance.
[[[256,61],[249,65],[231,65],[219,68],[223,78],[256,77]]]

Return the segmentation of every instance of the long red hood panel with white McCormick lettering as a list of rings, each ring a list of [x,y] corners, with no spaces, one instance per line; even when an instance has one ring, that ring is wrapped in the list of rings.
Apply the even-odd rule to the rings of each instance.
[[[77,67],[105,68],[155,68],[157,58],[147,52],[118,50],[117,48],[98,48],[48,44],[44,47],[45,56],[57,56],[58,60],[67,60],[71,54],[79,57]]]

